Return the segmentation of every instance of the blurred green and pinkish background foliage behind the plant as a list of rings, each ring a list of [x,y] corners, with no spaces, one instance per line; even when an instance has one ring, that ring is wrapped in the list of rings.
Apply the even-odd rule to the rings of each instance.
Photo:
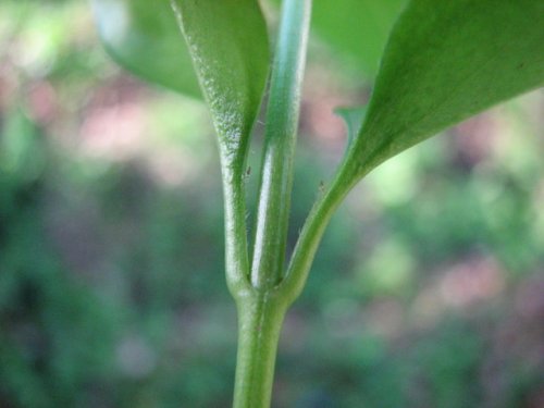
[[[343,153],[332,109],[368,99],[346,61],[313,41],[292,243]],[[536,91],[349,196],[287,316],[276,407],[544,407],[543,133]],[[203,106],[118,69],[86,2],[2,0],[0,407],[230,406],[222,217]]]

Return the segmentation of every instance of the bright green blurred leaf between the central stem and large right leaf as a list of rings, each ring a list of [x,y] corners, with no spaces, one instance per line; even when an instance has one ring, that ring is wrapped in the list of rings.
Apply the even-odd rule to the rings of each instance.
[[[369,78],[378,72],[387,36],[406,0],[318,0],[312,29]]]

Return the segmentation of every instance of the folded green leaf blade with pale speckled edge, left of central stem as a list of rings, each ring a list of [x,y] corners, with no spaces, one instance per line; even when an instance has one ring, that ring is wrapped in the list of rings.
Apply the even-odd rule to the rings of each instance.
[[[257,0],[172,0],[224,156],[245,150],[269,67]]]

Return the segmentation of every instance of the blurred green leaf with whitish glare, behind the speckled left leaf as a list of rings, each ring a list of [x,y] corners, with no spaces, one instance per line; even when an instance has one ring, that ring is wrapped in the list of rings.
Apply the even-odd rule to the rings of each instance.
[[[123,67],[149,82],[201,97],[187,46],[168,0],[91,0],[100,38]]]

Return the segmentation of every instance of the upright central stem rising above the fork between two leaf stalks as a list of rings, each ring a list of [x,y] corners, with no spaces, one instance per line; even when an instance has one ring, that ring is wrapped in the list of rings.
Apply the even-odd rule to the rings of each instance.
[[[277,285],[284,267],[311,0],[284,0],[271,73],[251,284]]]

